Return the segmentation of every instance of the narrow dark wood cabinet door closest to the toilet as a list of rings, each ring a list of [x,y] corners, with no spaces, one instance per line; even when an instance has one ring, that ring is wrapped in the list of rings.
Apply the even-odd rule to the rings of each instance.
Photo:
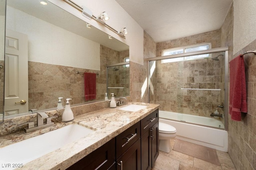
[[[152,126],[152,133],[153,133],[153,137],[152,137],[152,167],[154,166],[154,163],[156,162],[156,158],[159,155],[159,121],[156,122],[156,124],[154,124]]]

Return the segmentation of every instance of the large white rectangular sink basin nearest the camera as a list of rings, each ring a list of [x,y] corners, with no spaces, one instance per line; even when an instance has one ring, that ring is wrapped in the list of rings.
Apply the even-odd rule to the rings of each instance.
[[[0,148],[0,162],[2,164],[20,163],[24,165],[92,132],[94,131],[81,125],[67,125],[60,129]]]

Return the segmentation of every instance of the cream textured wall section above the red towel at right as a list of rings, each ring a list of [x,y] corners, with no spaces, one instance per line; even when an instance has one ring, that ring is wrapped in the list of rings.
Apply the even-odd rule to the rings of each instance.
[[[256,0],[234,0],[234,54],[256,39],[255,6]]]

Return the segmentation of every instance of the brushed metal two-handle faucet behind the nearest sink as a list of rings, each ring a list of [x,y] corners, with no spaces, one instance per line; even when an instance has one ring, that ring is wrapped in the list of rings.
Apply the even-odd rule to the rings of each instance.
[[[32,131],[43,129],[45,127],[53,126],[54,122],[52,122],[51,119],[54,118],[54,117],[58,117],[58,116],[49,117],[44,112],[37,112],[37,126],[34,125],[33,121],[32,122],[30,121],[30,122],[22,123],[21,125],[18,125],[18,126],[22,126],[22,125],[28,124],[28,128],[24,128],[24,131],[26,133],[29,133],[29,132],[32,132]],[[45,119],[46,119],[46,123],[44,123]]]

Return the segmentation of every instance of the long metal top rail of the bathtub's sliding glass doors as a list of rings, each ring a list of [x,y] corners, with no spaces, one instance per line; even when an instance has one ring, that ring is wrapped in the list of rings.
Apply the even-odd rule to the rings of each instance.
[[[228,51],[228,47],[202,50],[202,51],[196,51],[196,52],[190,52],[190,53],[166,55],[166,56],[161,56],[161,57],[152,57],[152,58],[147,58],[145,60],[146,61],[156,61],[156,60],[172,59],[172,58],[178,58],[178,57],[187,57],[187,56],[191,56],[191,55],[202,55],[202,54],[208,54],[208,53],[218,53],[218,52],[223,52],[223,51]]]

